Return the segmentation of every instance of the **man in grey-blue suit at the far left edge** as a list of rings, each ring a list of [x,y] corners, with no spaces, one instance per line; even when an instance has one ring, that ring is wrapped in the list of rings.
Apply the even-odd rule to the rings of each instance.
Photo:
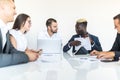
[[[21,52],[12,46],[7,23],[13,22],[15,14],[14,0],[0,0],[0,67],[35,61],[39,56],[35,51]]]

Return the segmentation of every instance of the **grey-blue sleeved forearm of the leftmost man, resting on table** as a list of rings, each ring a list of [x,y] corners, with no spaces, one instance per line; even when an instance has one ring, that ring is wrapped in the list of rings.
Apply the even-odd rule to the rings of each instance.
[[[0,67],[26,63],[28,61],[28,56],[24,52],[0,53]]]

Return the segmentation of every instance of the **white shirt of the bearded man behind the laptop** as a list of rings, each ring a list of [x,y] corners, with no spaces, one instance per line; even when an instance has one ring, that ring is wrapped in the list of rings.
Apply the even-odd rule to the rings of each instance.
[[[60,34],[57,32],[57,33],[54,33],[52,36],[50,36],[47,32],[47,30],[45,31],[41,31],[39,34],[38,34],[38,39],[60,39],[62,40]]]

